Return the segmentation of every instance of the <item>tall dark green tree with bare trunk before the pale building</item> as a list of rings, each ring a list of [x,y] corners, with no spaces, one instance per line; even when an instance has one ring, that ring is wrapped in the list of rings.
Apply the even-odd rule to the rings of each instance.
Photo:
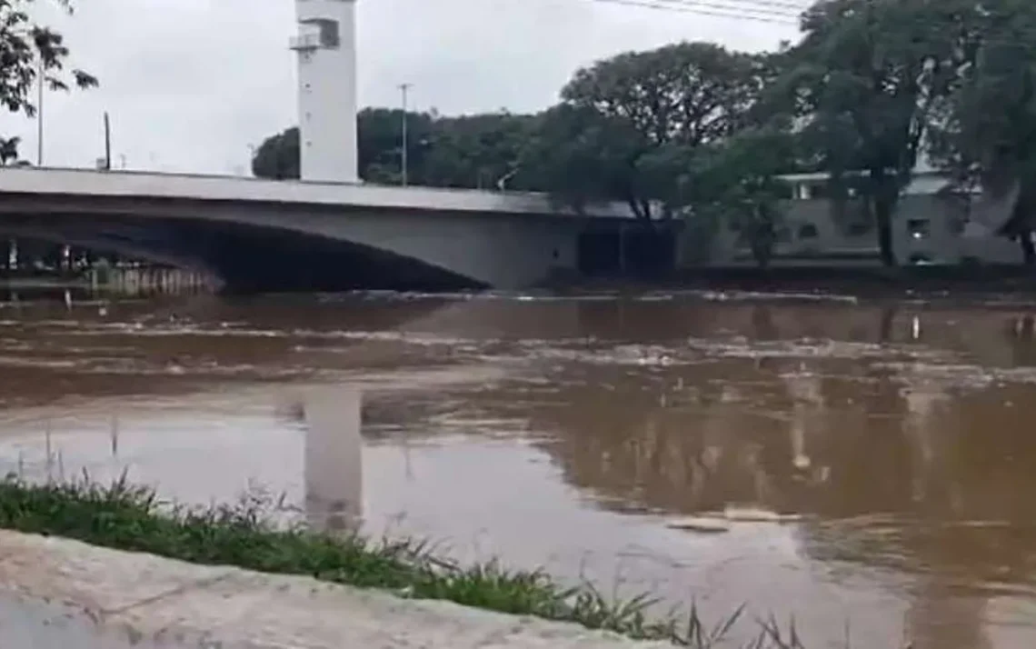
[[[822,0],[802,21],[774,86],[800,137],[834,185],[847,172],[876,222],[882,259],[895,265],[892,218],[923,154],[937,108],[963,63],[955,0]]]

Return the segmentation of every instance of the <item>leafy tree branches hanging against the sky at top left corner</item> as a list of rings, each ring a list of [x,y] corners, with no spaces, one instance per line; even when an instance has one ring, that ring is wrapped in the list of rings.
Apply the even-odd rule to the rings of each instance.
[[[54,0],[71,11],[68,0]],[[0,105],[12,113],[36,114],[32,90],[39,82],[51,90],[71,86],[89,88],[97,79],[82,69],[66,69],[68,48],[64,38],[51,28],[35,22],[28,8],[32,0],[0,0]],[[18,157],[18,138],[3,140],[6,161]]]

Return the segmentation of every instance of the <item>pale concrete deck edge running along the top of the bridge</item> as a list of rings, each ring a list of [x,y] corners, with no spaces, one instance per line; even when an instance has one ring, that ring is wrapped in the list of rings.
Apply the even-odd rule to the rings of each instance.
[[[545,194],[46,167],[0,169],[0,195],[3,194],[255,201],[451,213],[535,214],[559,218],[575,216],[551,206]],[[617,204],[596,207],[591,216],[632,218],[625,206]]]

